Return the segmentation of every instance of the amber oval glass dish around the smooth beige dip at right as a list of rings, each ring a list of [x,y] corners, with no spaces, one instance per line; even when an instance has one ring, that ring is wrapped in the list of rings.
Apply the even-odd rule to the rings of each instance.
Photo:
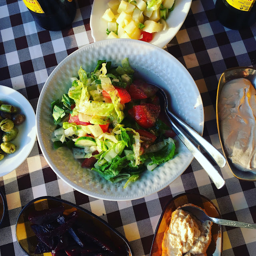
[[[220,117],[219,117],[219,107],[218,104],[220,102],[220,94],[224,85],[234,79],[237,78],[246,78],[250,80],[254,88],[256,88],[256,69],[252,67],[236,67],[236,68],[229,68],[225,70],[222,75],[220,76],[218,90],[217,90],[217,99],[216,99],[216,121],[217,121],[217,128],[218,134],[220,139],[220,145],[223,151],[223,154],[227,160],[228,167],[232,174],[240,179],[240,180],[247,180],[247,181],[256,181],[256,173],[254,172],[244,172],[236,168],[232,161],[228,158],[228,154],[224,148],[224,142],[222,140],[222,132],[220,130]]]

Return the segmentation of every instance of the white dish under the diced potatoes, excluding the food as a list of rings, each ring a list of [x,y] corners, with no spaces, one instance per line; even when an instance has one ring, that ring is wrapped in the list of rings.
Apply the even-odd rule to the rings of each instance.
[[[104,12],[109,8],[108,2],[110,0],[94,0],[92,5],[92,12],[90,17],[90,28],[92,30],[92,38],[94,42],[104,40],[107,38],[106,29],[108,22],[103,20],[101,17]],[[184,23],[188,11],[190,9],[192,0],[176,0],[174,9],[170,12],[166,23],[168,28],[166,30],[155,33],[153,39],[150,41],[160,48],[164,48],[166,44],[174,38],[180,27]]]

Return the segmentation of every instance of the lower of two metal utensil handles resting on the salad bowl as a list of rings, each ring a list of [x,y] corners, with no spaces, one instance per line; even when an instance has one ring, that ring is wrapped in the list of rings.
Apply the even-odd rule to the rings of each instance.
[[[176,132],[180,140],[184,143],[184,145],[188,148],[196,160],[198,160],[199,164],[201,164],[202,168],[204,168],[204,170],[212,179],[216,188],[222,188],[225,184],[222,176],[220,176],[218,171],[212,166],[208,159],[196,148],[196,146],[186,137],[186,135],[174,124],[174,122],[172,122],[169,116],[168,119],[173,126],[174,132]]]

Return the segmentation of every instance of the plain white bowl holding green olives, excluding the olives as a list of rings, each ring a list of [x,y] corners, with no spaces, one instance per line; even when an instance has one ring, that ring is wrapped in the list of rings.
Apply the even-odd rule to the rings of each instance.
[[[25,122],[17,126],[18,136],[11,141],[16,151],[0,161],[0,176],[4,176],[20,166],[31,152],[36,141],[36,115],[28,100],[10,87],[0,85],[0,100],[18,107],[20,113],[26,116]]]

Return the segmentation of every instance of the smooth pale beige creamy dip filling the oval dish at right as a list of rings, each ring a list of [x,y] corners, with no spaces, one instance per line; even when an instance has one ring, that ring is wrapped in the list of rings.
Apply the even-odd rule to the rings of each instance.
[[[224,85],[219,118],[228,158],[242,171],[256,172],[256,90],[245,78]]]

